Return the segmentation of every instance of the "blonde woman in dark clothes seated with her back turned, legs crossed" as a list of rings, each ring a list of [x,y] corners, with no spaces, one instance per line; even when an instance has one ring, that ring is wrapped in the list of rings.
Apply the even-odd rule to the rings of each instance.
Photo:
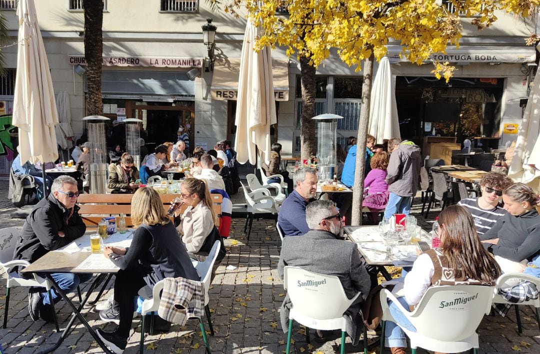
[[[156,190],[143,187],[135,192],[131,201],[131,221],[137,228],[131,246],[105,247],[103,250],[104,256],[120,270],[114,281],[117,305],[100,311],[99,317],[117,323],[118,328],[112,332],[98,329],[97,333],[116,353],[126,348],[135,310],[133,298],[140,288],[146,285],[153,288],[165,278],[200,280]]]

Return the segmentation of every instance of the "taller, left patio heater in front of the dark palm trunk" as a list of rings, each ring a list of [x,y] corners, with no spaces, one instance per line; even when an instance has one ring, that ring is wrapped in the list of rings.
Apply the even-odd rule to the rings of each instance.
[[[105,194],[107,185],[107,141],[105,121],[110,120],[103,115],[89,115],[86,121],[88,142],[90,142],[90,193]]]

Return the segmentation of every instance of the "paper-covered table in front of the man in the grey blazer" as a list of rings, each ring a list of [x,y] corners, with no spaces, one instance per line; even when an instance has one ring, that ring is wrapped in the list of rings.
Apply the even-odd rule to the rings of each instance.
[[[392,256],[388,256],[379,226],[346,226],[345,234],[350,241],[357,244],[358,251],[366,263],[375,266],[386,280],[392,280],[392,277],[384,267],[410,267],[416,260],[418,246],[411,244],[410,241],[407,244],[398,244],[395,247],[397,251]],[[429,234],[421,227],[420,239],[431,244]]]

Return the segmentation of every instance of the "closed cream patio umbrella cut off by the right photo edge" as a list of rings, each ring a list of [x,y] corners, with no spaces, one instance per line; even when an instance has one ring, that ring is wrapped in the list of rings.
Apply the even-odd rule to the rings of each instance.
[[[540,44],[536,46],[540,50]],[[516,149],[508,176],[515,182],[523,182],[538,191],[540,171],[530,166],[540,163],[538,157],[532,155],[538,135],[540,134],[540,70],[536,72],[534,84],[529,93],[527,107],[523,113],[523,120],[517,135]],[[536,155],[538,156],[538,155]]]

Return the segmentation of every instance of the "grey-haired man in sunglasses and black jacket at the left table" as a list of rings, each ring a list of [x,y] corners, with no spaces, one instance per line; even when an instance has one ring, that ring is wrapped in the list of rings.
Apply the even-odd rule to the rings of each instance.
[[[77,181],[70,176],[59,176],[52,183],[49,196],[37,203],[26,217],[21,236],[15,246],[14,259],[35,262],[49,251],[62,248],[78,239],[86,231],[86,226],[79,216],[79,207],[75,205]],[[80,282],[89,280],[91,274],[53,273],[53,279],[60,289],[70,292],[77,289]],[[28,277],[27,274],[22,274]],[[51,299],[43,288],[31,288],[28,294],[28,311],[33,321],[39,314],[47,322],[53,321],[50,307]],[[52,300],[56,303],[60,296],[51,290]]]

